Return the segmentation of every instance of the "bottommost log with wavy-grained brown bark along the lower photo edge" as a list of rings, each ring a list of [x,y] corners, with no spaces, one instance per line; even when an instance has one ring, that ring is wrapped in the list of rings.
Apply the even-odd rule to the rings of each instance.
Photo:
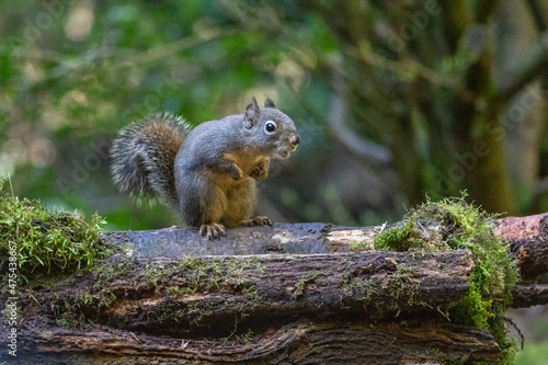
[[[59,364],[412,364],[461,358],[495,361],[499,346],[473,328],[432,323],[301,321],[270,329],[249,344],[104,331],[57,330],[31,340],[38,354],[23,363]],[[100,349],[100,352],[98,352]],[[123,355],[122,355],[123,354]]]

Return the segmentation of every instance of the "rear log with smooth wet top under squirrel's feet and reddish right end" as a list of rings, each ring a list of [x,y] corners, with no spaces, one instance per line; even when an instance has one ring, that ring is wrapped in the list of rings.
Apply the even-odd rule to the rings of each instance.
[[[396,224],[397,225],[397,224]],[[392,225],[395,226],[395,225]],[[548,272],[548,214],[495,220],[496,232],[511,243],[520,260],[522,278],[536,280]],[[273,227],[230,230],[218,241],[204,240],[196,230],[171,227],[148,231],[112,232],[106,240],[125,243],[135,258],[181,258],[242,254],[317,254],[349,252],[362,242],[373,250],[383,226],[341,227],[331,224],[275,224]]]

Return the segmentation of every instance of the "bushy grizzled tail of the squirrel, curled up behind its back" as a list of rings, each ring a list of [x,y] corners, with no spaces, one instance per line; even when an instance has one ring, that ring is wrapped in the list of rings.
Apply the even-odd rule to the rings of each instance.
[[[140,201],[155,193],[178,207],[174,162],[190,126],[182,117],[155,114],[121,130],[111,149],[114,184]]]

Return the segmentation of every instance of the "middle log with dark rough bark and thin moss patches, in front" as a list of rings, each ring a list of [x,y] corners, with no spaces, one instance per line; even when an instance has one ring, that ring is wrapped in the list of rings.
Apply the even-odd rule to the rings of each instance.
[[[124,265],[113,275],[94,272],[34,290],[26,310],[56,317],[71,315],[59,309],[68,307],[95,323],[185,337],[227,335],[236,321],[256,327],[299,317],[442,317],[468,290],[473,263],[468,251],[459,250],[415,256],[373,251],[155,259]]]

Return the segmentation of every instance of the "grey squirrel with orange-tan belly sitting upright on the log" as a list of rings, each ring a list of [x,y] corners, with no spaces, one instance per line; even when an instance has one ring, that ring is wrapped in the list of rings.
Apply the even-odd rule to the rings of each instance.
[[[299,141],[272,100],[260,109],[252,98],[243,114],[194,128],[170,113],[130,124],[113,142],[111,172],[121,192],[157,195],[212,240],[226,228],[272,225],[265,216],[251,219],[256,182],[269,175],[272,158],[288,158]]]

